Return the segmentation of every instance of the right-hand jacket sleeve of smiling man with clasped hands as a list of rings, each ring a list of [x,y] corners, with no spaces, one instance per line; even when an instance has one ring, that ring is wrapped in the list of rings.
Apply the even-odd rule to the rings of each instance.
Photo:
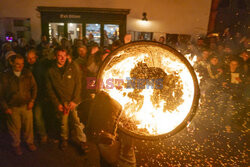
[[[76,104],[79,104],[81,102],[81,93],[82,93],[81,72],[76,63],[73,62],[72,65],[75,71],[75,89],[72,101],[75,102]]]

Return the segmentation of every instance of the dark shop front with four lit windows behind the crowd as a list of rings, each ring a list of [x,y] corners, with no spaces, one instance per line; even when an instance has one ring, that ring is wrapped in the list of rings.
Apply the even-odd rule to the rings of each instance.
[[[37,7],[41,15],[42,35],[48,39],[88,38],[108,46],[126,34],[129,9]]]

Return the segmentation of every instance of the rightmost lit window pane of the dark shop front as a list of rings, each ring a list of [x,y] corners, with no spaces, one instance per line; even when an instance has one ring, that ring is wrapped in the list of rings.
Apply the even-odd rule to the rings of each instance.
[[[117,39],[119,39],[119,25],[104,24],[104,46],[111,45]]]

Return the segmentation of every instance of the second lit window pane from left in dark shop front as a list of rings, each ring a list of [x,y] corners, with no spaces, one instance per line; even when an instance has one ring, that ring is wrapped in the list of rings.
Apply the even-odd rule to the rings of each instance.
[[[82,24],[68,23],[68,39],[82,39]]]

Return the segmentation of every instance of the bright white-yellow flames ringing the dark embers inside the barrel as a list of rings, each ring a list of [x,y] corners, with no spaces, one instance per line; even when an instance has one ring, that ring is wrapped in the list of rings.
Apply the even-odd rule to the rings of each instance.
[[[148,67],[162,69],[168,76],[180,78],[182,96],[179,105],[173,110],[166,110],[166,101],[161,99],[157,105],[152,101],[155,89],[142,89],[138,93],[142,100],[134,100],[129,94],[134,89],[127,88],[127,78],[138,63]],[[124,80],[122,88],[102,88],[123,107],[120,126],[136,134],[156,136],[168,133],[180,125],[189,114],[194,100],[194,81],[187,66],[172,52],[159,46],[136,45],[118,51],[102,70],[101,79],[110,78]],[[165,86],[165,85],[164,85]],[[172,93],[175,97],[175,92]]]

